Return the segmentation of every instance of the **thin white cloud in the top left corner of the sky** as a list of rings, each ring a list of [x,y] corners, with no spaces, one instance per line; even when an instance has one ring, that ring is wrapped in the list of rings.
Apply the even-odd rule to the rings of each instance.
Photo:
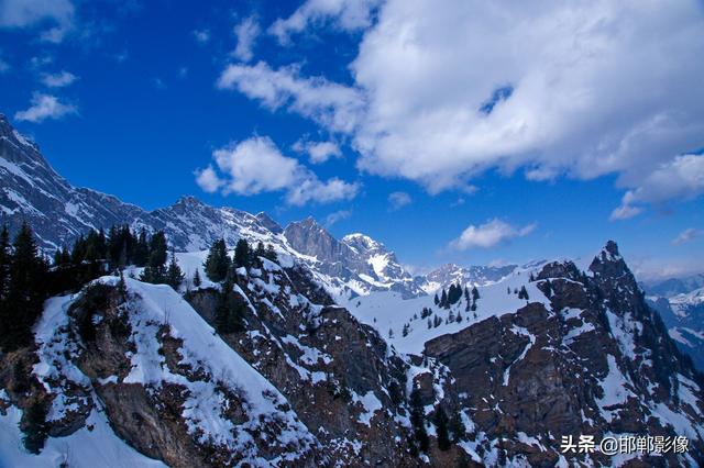
[[[32,27],[46,21],[54,24],[41,33],[45,42],[59,43],[73,27],[74,4],[69,0],[3,0],[0,27]]]

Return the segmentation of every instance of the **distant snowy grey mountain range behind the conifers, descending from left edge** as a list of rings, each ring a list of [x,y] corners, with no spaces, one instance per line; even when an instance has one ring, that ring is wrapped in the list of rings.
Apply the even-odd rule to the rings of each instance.
[[[29,221],[41,247],[53,253],[89,230],[127,224],[139,230],[163,230],[180,252],[207,249],[217,238],[234,246],[240,237],[272,244],[293,261],[306,264],[324,288],[338,298],[396,291],[414,298],[451,282],[484,285],[509,274],[515,266],[460,267],[447,265],[426,276],[411,276],[393,252],[364,234],[334,238],[308,218],[283,229],[266,213],[213,208],[183,197],[167,208],[145,211],[117,197],[73,187],[0,114],[0,221],[16,232]]]

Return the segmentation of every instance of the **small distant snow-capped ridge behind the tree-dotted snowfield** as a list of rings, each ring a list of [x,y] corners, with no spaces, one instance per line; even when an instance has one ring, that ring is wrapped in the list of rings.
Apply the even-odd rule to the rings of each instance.
[[[428,294],[450,285],[488,285],[510,275],[518,265],[495,266],[471,266],[462,267],[457,264],[444,264],[430,271],[418,280],[421,288]]]

